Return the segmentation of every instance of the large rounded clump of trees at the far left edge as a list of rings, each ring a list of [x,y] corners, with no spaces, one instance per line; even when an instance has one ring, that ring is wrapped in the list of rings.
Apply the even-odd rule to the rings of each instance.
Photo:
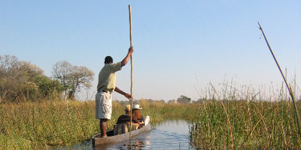
[[[50,89],[60,89],[59,84],[46,77],[38,66],[28,61],[18,61],[17,57],[0,56],[0,101],[45,98],[51,91],[48,89],[45,92],[43,89],[47,82],[53,82]]]

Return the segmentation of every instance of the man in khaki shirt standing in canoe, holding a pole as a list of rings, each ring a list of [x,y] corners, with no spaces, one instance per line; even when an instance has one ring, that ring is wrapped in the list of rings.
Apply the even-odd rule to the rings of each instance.
[[[127,64],[130,56],[134,52],[133,47],[129,48],[127,56],[118,63],[113,63],[113,59],[107,56],[104,59],[104,67],[99,72],[97,94],[95,96],[95,118],[99,119],[100,133],[106,137],[106,121],[111,119],[112,114],[112,92],[122,94],[130,100],[131,95],[116,87],[116,72]]]

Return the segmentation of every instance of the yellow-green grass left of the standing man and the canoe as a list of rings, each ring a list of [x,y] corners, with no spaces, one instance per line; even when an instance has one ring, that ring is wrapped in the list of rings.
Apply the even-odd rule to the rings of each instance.
[[[50,149],[97,132],[92,103],[45,101],[1,105],[0,149]]]

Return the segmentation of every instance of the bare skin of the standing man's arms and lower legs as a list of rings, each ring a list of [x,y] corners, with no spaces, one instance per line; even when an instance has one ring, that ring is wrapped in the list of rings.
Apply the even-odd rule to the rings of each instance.
[[[121,67],[123,67],[127,64],[127,62],[130,60],[130,57],[133,52],[134,52],[133,47],[130,47],[129,52],[127,52],[127,56],[125,56],[123,61],[121,61]],[[132,96],[130,94],[125,93],[118,87],[115,87],[114,91],[116,91],[117,93],[120,93],[121,95],[125,96],[129,100],[131,100],[131,98],[132,98]],[[99,119],[100,133],[101,133],[102,137],[106,136],[106,121],[108,121],[108,119]]]

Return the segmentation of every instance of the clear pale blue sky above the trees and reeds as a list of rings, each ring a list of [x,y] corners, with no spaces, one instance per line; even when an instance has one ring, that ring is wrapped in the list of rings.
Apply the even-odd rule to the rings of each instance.
[[[134,98],[196,99],[224,79],[258,87],[282,79],[262,24],[288,79],[301,86],[301,1],[0,1],[0,54],[31,61],[51,76],[58,61],[97,75],[104,57],[121,61],[130,46],[132,5]],[[130,63],[117,74],[130,92]],[[300,91],[299,91],[300,92]],[[90,97],[89,96],[89,97]],[[113,99],[125,100],[118,93]]]

